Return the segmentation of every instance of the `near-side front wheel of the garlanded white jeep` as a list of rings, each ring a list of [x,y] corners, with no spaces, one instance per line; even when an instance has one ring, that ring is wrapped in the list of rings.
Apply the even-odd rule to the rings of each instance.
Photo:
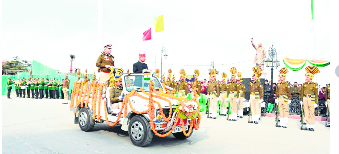
[[[151,143],[153,132],[149,128],[149,122],[144,117],[136,115],[129,121],[128,136],[135,146],[145,147]]]

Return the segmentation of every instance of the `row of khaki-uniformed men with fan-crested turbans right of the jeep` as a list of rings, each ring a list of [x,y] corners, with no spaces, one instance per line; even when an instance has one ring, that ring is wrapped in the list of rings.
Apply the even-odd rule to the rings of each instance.
[[[252,81],[250,82],[250,110],[252,112],[252,119],[248,123],[258,124],[261,107],[260,103],[263,102],[263,86],[258,81],[261,76],[261,71],[259,67],[253,67]],[[301,88],[301,105],[304,108],[306,127],[303,130],[314,131],[314,109],[317,107],[316,101],[318,100],[318,85],[312,82],[314,74],[319,73],[319,69],[315,66],[308,66],[305,68],[305,80]],[[170,72],[170,71],[169,71]],[[171,71],[172,72],[172,71]],[[276,104],[279,108],[280,124],[277,127],[287,128],[288,122],[288,108],[291,103],[291,88],[288,82],[285,82],[286,73],[288,69],[283,67],[279,70],[279,81],[276,88]],[[195,70],[195,81],[199,76],[199,70]],[[220,100],[222,106],[222,114],[226,115],[226,102],[230,101],[230,106],[232,108],[231,118],[227,120],[236,121],[237,117],[243,116],[243,98],[245,96],[245,85],[242,84],[241,72],[238,72],[238,80],[236,79],[236,68],[231,68],[231,81],[230,83],[225,83],[225,78],[227,77],[226,73],[222,73],[221,84],[218,84],[216,80],[217,70],[213,69],[210,75],[210,83],[207,84],[207,97],[209,99],[209,106],[211,108],[212,116],[209,118],[216,118],[217,116],[217,101]],[[185,71],[180,70],[180,81],[178,82],[178,97],[187,97],[188,86],[187,82],[184,80]],[[171,73],[168,73],[167,80],[164,81],[166,86],[174,88],[176,90],[176,85],[174,80],[171,80]],[[198,99],[200,98],[200,83],[195,82],[192,86],[197,88],[196,94]],[[260,101],[259,101],[260,100]],[[326,88],[326,105],[328,105],[328,110],[330,110],[330,87]]]

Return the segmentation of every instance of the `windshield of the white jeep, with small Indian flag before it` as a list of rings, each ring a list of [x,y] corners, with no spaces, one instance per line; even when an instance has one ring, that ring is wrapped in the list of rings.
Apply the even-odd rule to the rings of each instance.
[[[149,91],[148,85],[149,80],[144,80],[144,75],[126,75],[124,76],[125,79],[125,89],[127,91],[132,91],[133,89],[136,89],[137,91],[140,91],[140,87],[144,89],[145,91]],[[151,77],[151,80],[154,83],[154,88],[158,90],[161,87],[161,84],[155,76]]]

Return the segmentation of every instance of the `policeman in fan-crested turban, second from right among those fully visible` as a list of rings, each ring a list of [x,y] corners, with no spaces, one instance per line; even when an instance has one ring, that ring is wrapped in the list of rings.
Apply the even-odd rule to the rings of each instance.
[[[276,103],[279,106],[280,125],[277,127],[287,128],[288,121],[288,106],[291,104],[291,87],[290,83],[285,82],[286,73],[288,72],[286,67],[279,70],[280,83],[276,88]]]

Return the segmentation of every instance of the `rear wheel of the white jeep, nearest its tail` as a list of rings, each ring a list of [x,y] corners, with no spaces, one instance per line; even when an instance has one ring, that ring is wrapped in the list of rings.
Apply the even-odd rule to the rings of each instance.
[[[91,114],[89,114],[88,109],[85,107],[81,108],[79,111],[78,122],[80,129],[85,132],[91,131],[95,123]]]

